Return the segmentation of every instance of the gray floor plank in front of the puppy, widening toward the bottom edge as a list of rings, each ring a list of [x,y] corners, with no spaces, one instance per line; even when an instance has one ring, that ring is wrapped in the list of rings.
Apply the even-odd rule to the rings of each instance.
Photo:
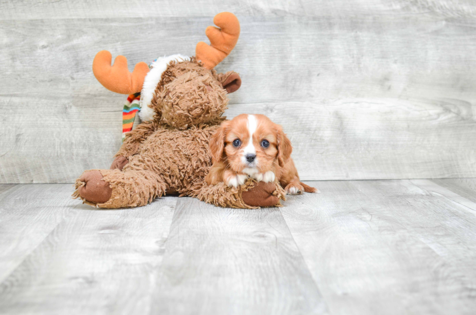
[[[179,199],[153,314],[323,314],[325,305],[276,208]]]

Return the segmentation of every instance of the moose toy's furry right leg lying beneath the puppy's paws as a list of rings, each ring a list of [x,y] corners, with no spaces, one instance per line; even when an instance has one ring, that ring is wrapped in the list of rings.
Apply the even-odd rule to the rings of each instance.
[[[286,192],[278,182],[247,180],[238,187],[227,187],[223,182],[208,185],[204,180],[192,186],[191,196],[220,207],[256,209],[280,207]]]

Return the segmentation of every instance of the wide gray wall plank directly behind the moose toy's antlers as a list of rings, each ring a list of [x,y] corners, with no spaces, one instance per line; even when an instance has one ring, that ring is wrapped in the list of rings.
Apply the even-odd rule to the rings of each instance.
[[[476,20],[443,21],[398,15],[371,20],[242,17],[238,44],[217,69],[235,70],[243,77],[232,103],[348,98],[470,102],[476,79],[468,66],[476,64],[476,56],[461,46],[476,47],[476,34],[468,31]],[[132,18],[127,23],[119,18],[1,21],[2,96],[115,96],[92,75],[99,50],[125,55],[131,69],[136,62],[162,55],[193,54],[197,42],[206,39],[210,22],[208,17],[189,18],[186,24],[178,17]],[[96,106],[102,110],[104,105]]]

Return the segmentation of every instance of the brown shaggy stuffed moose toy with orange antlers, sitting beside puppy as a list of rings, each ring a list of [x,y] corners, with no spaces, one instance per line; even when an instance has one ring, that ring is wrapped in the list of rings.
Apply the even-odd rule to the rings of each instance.
[[[162,57],[151,67],[140,62],[130,73],[125,57],[111,66],[109,51],[96,55],[93,72],[105,88],[140,92],[141,123],[126,134],[110,169],[87,170],[76,180],[74,198],[99,208],[143,206],[166,193],[222,207],[280,205],[285,192],[277,181],[248,179],[238,187],[204,181],[212,164],[208,141],[225,120],[227,93],[241,84],[238,73],[213,69],[235,47],[238,19],[223,12],[214,23],[220,28],[205,31],[211,46],[198,43],[195,57]]]

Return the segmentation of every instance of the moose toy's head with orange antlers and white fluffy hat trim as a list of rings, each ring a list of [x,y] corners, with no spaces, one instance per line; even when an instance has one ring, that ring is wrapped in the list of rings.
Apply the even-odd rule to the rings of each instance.
[[[211,46],[197,44],[196,57],[171,55],[156,59],[151,66],[140,62],[131,73],[127,60],[118,56],[111,66],[111,53],[100,51],[93,72],[107,89],[121,93],[140,92],[142,121],[158,120],[177,129],[221,120],[228,104],[227,93],[238,90],[238,73],[217,73],[218,65],[235,47],[240,32],[237,17],[228,12],[215,16],[205,33]]]

